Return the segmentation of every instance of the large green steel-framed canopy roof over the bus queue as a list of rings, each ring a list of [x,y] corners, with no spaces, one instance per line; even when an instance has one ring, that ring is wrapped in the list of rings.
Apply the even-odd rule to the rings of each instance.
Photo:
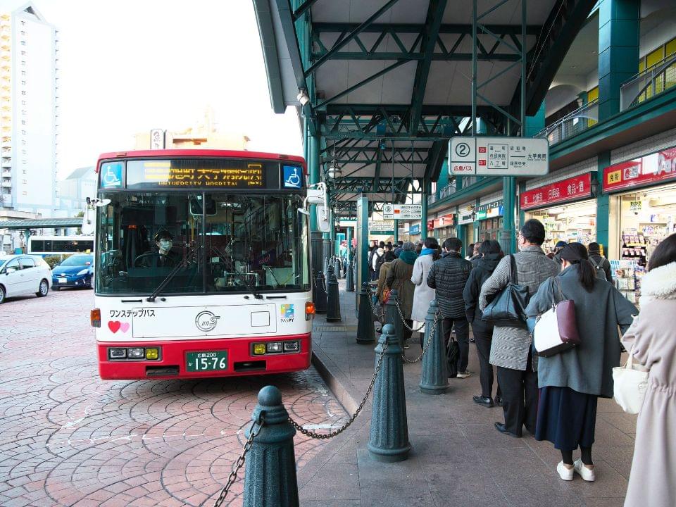
[[[273,109],[306,117],[325,179],[339,168],[332,200],[349,210],[361,193],[422,192],[454,135],[520,134],[596,1],[253,3]]]

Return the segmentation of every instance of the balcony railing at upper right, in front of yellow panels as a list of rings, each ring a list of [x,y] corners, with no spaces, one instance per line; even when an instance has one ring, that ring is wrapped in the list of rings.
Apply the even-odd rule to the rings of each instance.
[[[676,54],[658,61],[620,86],[620,111],[637,106],[676,85]]]

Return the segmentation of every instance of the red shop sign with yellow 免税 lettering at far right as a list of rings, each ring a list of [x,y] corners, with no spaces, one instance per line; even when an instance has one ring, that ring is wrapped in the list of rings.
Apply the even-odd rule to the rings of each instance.
[[[676,148],[634,158],[603,170],[603,192],[676,180]]]

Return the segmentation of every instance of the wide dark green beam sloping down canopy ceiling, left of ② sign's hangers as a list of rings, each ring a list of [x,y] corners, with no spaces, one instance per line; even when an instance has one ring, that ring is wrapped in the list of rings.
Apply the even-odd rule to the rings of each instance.
[[[409,128],[409,132],[413,134],[418,132],[420,114],[423,111],[423,101],[425,100],[425,90],[427,89],[427,77],[430,75],[432,55],[434,54],[434,48],[437,46],[439,28],[442,25],[445,10],[446,0],[430,0],[430,5],[427,6],[425,30],[423,31],[423,40],[420,42],[424,58],[418,62],[418,66],[415,68],[413,93],[411,94],[411,116],[409,117],[411,127]]]

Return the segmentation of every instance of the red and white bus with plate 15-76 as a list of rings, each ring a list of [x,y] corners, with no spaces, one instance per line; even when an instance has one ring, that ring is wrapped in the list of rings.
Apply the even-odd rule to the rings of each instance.
[[[101,155],[97,172],[92,325],[102,379],[309,367],[303,158],[128,151]]]

